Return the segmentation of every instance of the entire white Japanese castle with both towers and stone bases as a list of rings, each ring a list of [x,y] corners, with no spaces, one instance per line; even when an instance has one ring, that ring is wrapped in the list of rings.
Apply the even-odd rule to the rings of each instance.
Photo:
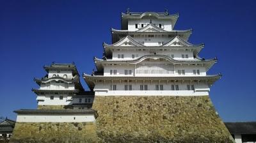
[[[74,63],[44,66],[38,107],[15,110],[10,142],[234,142],[209,98],[217,59],[198,56],[204,43],[175,30],[178,17],[121,13],[97,70],[83,73],[89,91]]]

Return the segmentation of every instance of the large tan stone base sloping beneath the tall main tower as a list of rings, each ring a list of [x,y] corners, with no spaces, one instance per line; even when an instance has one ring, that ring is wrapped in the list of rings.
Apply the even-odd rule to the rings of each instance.
[[[209,96],[95,96],[99,142],[234,142]]]

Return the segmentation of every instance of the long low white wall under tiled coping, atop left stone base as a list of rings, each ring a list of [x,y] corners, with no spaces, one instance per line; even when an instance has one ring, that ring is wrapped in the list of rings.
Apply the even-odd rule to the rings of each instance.
[[[95,122],[93,114],[18,114],[17,122]]]

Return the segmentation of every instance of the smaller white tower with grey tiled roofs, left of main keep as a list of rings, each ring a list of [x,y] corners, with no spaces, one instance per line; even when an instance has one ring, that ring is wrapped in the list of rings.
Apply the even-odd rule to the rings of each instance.
[[[75,64],[44,66],[47,75],[34,79],[39,89],[32,89],[37,95],[38,109],[88,109],[92,107],[93,92],[84,91]]]

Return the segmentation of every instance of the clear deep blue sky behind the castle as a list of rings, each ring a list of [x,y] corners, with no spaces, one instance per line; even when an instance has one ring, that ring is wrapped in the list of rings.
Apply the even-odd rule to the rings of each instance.
[[[111,27],[120,29],[120,12],[164,11],[180,14],[175,29],[193,28],[191,43],[205,43],[201,57],[217,56],[209,74],[223,77],[211,99],[224,121],[256,121],[256,3],[252,1],[0,1],[0,116],[35,109],[44,64],[71,63],[91,73]],[[88,89],[83,79],[83,86]]]

